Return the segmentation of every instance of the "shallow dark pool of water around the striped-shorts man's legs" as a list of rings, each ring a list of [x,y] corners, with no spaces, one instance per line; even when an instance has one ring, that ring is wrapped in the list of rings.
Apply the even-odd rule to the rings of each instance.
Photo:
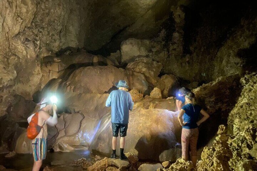
[[[13,157],[5,158],[5,154],[0,154],[0,165],[5,166],[6,169],[15,169],[22,171],[31,171],[33,167],[32,154],[16,154]],[[74,152],[47,152],[46,159],[43,160],[41,168],[50,166],[56,170],[68,171],[79,170],[76,166],[71,166],[74,160],[81,159],[82,157],[91,160],[89,151],[75,150]],[[51,164],[52,163],[52,164]],[[81,168],[81,167],[80,167]]]

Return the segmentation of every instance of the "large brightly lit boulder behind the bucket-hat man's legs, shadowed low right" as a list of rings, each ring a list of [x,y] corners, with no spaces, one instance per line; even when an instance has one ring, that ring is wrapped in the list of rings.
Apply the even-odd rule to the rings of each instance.
[[[175,161],[177,153],[181,151],[180,148],[175,147],[181,134],[177,115],[178,113],[169,110],[133,109],[129,117],[125,152],[133,153],[139,159]],[[101,128],[104,126],[106,129]],[[99,129],[98,133],[100,133],[97,135],[92,149],[102,153],[111,153],[111,121],[108,120],[105,124],[101,123]],[[116,152],[119,153],[119,145]]]

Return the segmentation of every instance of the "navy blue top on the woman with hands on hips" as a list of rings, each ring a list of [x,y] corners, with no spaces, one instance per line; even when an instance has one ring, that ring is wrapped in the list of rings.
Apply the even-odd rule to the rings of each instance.
[[[184,113],[184,122],[188,122],[183,126],[185,129],[194,129],[197,128],[196,122],[198,121],[200,111],[202,110],[202,107],[195,104],[186,104],[182,107],[183,110],[185,110]]]

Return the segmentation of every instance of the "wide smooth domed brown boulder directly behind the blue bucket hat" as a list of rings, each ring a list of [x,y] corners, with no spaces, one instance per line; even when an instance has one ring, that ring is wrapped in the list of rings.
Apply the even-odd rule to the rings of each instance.
[[[104,94],[119,80],[127,81],[129,88],[142,94],[150,94],[148,82],[143,74],[125,71],[114,66],[81,67],[60,82],[64,92]]]

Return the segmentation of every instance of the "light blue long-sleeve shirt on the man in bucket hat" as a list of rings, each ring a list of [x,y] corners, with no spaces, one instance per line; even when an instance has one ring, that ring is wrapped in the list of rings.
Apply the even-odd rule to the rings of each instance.
[[[129,123],[129,110],[132,110],[134,106],[129,92],[124,90],[112,91],[105,106],[112,107],[112,123]]]

